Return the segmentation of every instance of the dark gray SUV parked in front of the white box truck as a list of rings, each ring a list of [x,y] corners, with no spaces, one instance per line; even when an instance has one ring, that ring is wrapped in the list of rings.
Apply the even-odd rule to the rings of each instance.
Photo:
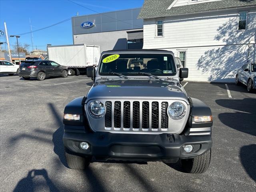
[[[19,76],[25,80],[36,77],[42,81],[50,76],[68,76],[68,68],[54,61],[27,60],[20,65]]]

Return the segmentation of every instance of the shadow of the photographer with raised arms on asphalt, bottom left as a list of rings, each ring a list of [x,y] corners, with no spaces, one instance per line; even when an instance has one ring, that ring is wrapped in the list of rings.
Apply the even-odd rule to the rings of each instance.
[[[41,179],[38,180],[39,177],[42,176],[44,181]],[[38,178],[37,178],[38,177]],[[28,175],[25,178],[22,178],[16,187],[14,188],[14,192],[34,192],[38,191],[42,184],[46,182],[47,186],[49,187],[50,192],[58,192],[59,190],[56,188],[52,180],[50,180],[48,173],[45,169],[41,170],[30,170]]]

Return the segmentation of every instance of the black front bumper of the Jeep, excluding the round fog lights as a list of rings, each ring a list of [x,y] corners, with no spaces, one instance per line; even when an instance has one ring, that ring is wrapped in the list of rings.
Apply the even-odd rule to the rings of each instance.
[[[212,137],[184,136],[178,134],[113,134],[109,132],[71,133],[64,132],[64,146],[69,152],[81,156],[94,156],[100,160],[170,160],[193,158],[204,154],[212,147]],[[80,148],[87,142],[89,148]],[[185,144],[192,144],[190,153],[184,151]]]

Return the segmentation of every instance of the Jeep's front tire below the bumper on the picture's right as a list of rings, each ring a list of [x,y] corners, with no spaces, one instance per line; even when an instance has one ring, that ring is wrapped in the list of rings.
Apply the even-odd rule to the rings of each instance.
[[[211,149],[206,153],[192,159],[182,159],[181,164],[186,173],[203,173],[207,170],[211,161]]]

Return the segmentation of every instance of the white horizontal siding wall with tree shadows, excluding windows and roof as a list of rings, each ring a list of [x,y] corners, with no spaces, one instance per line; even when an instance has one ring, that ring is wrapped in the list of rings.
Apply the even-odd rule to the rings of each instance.
[[[238,31],[238,10],[164,18],[164,37],[156,38],[156,19],[144,19],[145,49],[185,50],[192,81],[233,81],[237,68],[255,61],[256,9],[248,10],[247,30]],[[242,45],[234,45],[242,44]]]

